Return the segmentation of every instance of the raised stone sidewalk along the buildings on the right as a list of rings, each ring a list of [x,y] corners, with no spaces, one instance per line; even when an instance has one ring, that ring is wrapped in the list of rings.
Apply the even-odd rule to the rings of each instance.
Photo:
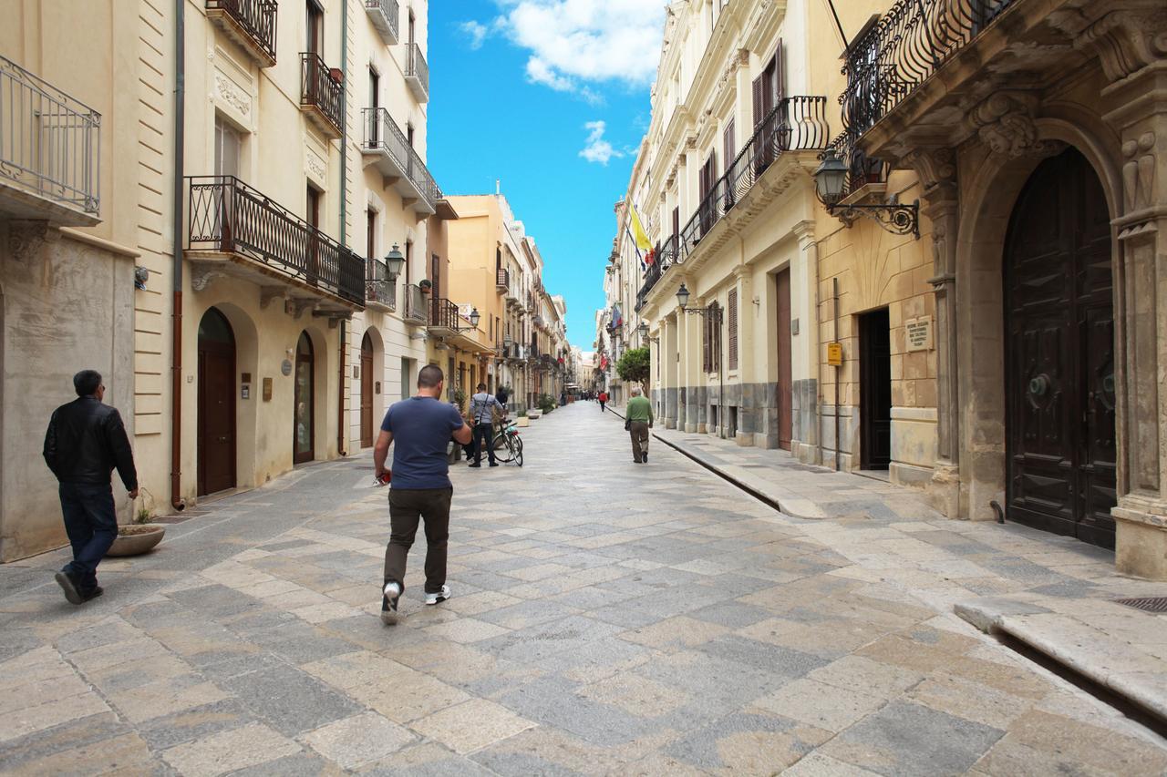
[[[623,408],[613,408],[622,418]],[[1167,722],[1167,612],[1116,600],[1167,597],[1167,583],[1119,575],[1113,553],[1018,524],[949,520],[903,487],[783,450],[705,434],[654,436],[806,520],[802,528],[929,604],[1007,635]]]

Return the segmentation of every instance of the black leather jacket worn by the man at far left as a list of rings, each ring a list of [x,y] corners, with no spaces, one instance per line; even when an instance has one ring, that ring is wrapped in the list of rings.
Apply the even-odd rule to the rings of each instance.
[[[53,412],[44,435],[44,462],[62,483],[109,483],[117,468],[127,491],[138,488],[121,415],[96,397],[79,397]]]

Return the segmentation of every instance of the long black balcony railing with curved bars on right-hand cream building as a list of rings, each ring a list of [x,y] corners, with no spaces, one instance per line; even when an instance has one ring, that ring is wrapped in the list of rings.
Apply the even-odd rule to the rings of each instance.
[[[770,111],[738,158],[697,206],[680,232],[678,260],[684,260],[710,230],[753,188],[783,153],[823,150],[830,141],[825,97],[787,97]]]

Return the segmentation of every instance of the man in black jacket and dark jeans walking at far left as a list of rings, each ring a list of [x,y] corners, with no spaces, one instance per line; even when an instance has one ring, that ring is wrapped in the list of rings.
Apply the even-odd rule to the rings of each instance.
[[[61,483],[61,511],[72,545],[74,560],[56,581],[74,604],[102,595],[97,565],[118,536],[113,506],[113,469],[130,498],[138,498],[138,473],[121,415],[102,404],[102,374],[82,370],[74,376],[77,399],[53,413],[44,435],[44,461]]]

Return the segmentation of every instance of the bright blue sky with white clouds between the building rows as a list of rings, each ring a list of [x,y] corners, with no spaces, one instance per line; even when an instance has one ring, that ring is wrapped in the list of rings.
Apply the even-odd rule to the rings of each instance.
[[[584,351],[663,28],[662,0],[429,2],[427,164],[447,195],[492,194],[501,180]]]

